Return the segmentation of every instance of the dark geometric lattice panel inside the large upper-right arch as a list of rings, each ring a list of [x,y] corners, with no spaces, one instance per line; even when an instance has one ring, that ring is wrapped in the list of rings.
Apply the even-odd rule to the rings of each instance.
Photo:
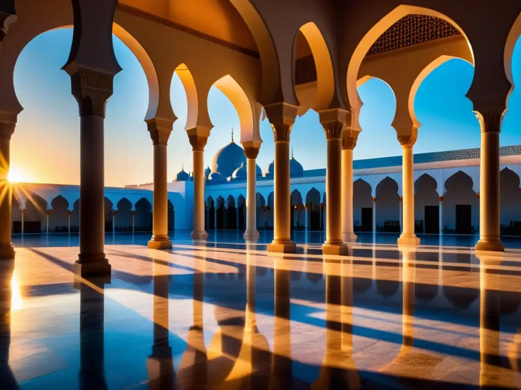
[[[443,19],[427,15],[407,15],[378,37],[367,51],[367,56],[452,35],[460,35],[460,32]]]

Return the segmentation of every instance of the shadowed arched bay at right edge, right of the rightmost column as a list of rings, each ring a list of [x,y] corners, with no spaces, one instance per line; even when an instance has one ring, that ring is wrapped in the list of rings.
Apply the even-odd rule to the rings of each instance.
[[[499,176],[500,225],[502,235],[521,235],[521,188],[519,176],[504,168]]]

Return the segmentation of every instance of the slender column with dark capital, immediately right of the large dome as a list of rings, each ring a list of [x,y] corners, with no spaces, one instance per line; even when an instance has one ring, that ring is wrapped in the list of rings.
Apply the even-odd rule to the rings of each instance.
[[[246,155],[246,231],[244,240],[257,241],[257,155],[258,148],[244,148]]]

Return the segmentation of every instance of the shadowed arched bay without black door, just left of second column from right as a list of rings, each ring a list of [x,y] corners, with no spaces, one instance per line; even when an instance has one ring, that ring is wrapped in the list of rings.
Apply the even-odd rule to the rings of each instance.
[[[376,186],[376,231],[400,232],[398,183],[389,176]]]

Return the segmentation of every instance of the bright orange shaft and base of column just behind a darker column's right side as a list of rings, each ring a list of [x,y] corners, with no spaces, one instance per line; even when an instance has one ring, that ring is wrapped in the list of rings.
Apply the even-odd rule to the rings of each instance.
[[[342,149],[342,239],[355,242],[353,231],[353,149]]]

